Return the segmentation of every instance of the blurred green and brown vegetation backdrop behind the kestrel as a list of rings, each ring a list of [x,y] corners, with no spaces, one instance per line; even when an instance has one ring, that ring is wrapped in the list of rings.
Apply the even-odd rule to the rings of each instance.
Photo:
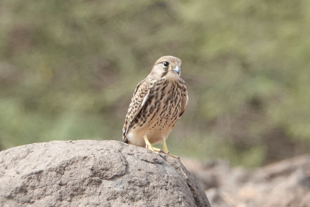
[[[181,157],[254,168],[310,151],[307,0],[2,0],[0,148],[115,139],[137,83],[179,57]]]

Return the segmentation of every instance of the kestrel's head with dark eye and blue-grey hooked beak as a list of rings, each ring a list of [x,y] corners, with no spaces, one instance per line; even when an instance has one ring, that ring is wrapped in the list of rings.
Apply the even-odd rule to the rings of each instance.
[[[151,73],[161,75],[161,77],[169,77],[178,79],[181,72],[182,61],[174,56],[163,56],[159,58],[153,66]]]

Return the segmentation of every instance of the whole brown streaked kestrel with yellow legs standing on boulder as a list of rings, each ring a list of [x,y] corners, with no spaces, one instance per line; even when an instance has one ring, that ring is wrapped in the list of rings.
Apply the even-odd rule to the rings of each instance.
[[[177,57],[163,56],[137,85],[123,127],[125,143],[171,155],[166,139],[188,101],[185,82],[180,78],[181,63]],[[162,142],[163,150],[152,146],[157,142]]]

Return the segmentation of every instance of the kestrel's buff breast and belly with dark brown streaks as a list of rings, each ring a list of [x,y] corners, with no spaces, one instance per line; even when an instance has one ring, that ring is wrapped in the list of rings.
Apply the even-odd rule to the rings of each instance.
[[[148,99],[136,117],[132,126],[132,136],[143,139],[146,135],[153,144],[167,138],[179,118],[182,90],[178,82],[154,83]]]

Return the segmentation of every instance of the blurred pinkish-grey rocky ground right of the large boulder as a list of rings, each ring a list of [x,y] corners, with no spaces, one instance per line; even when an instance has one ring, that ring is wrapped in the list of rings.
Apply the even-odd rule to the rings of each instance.
[[[212,207],[310,207],[310,155],[253,171],[216,160],[182,163],[203,184]]]

